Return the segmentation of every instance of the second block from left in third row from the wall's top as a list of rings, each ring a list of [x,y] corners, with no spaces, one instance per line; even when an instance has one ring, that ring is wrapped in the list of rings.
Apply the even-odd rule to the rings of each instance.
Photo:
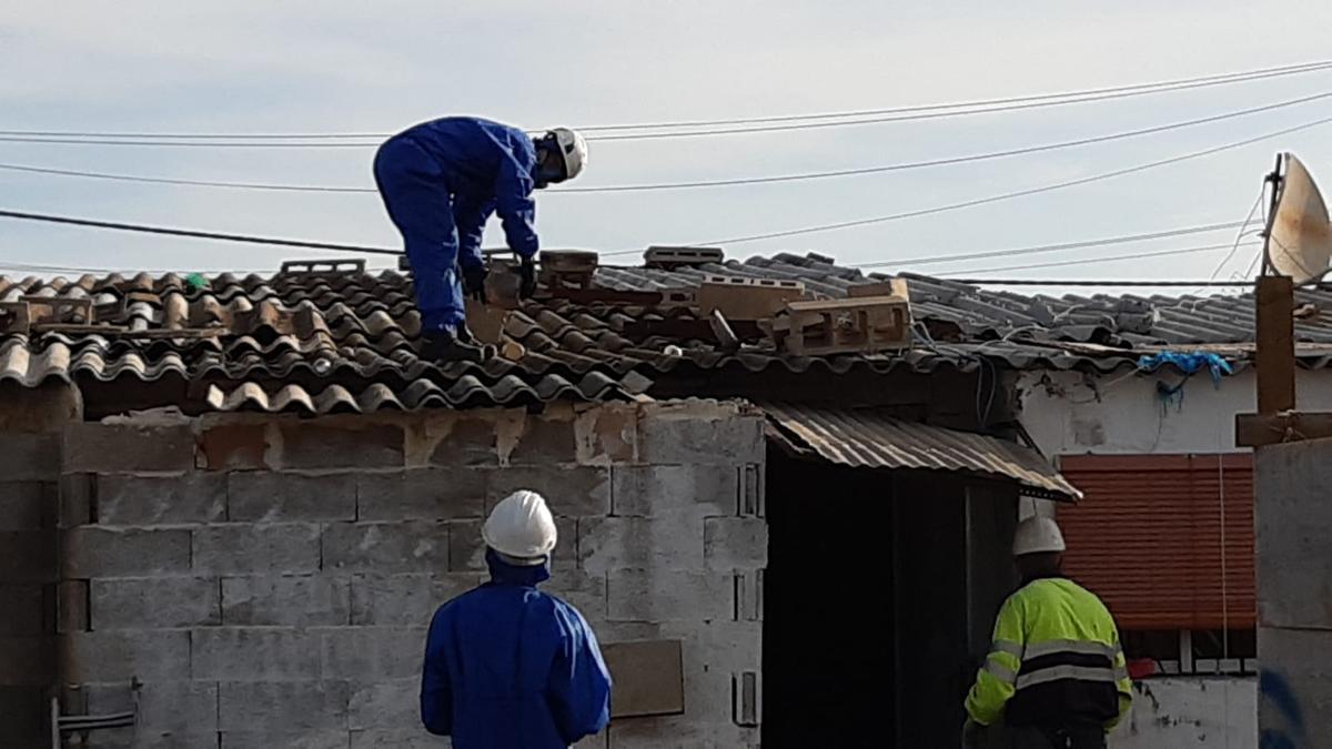
[[[306,573],[320,569],[320,526],[226,524],[194,529],[194,570],[205,574]]]

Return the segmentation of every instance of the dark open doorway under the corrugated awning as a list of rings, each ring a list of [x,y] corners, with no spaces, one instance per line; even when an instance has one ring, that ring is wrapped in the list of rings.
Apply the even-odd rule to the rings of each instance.
[[[1011,592],[1011,486],[769,450],[766,748],[955,746]]]

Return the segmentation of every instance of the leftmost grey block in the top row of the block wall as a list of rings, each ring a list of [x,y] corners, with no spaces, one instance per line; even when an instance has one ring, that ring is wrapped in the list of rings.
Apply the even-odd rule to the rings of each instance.
[[[188,424],[131,426],[76,422],[64,432],[67,473],[193,470],[194,434]]]

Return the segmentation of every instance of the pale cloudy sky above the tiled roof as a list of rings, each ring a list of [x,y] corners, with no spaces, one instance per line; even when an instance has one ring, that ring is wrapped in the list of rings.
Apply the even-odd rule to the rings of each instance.
[[[839,0],[557,3],[63,3],[0,16],[0,129],[396,132],[445,115],[525,128],[763,117],[1128,85],[1332,59],[1332,3],[928,4]],[[594,141],[577,187],[850,169],[1023,148],[1332,92],[1332,71],[1102,103],[769,133]],[[547,249],[641,251],[852,221],[1076,180],[1332,116],[1332,99],[1144,137],[835,180],[538,196]],[[1095,184],[754,243],[879,271],[982,271],[1224,244],[1235,231],[1027,257],[895,260],[1236,221],[1277,151],[1332,180],[1332,124]],[[0,143],[0,164],[372,187],[370,148]],[[0,171],[0,208],[398,247],[374,195],[246,192]],[[488,229],[486,247],[503,235]],[[1027,279],[1229,279],[1240,248],[1059,268]],[[5,263],[276,271],[325,253],[0,220]],[[618,256],[633,261],[634,256]],[[610,261],[610,259],[606,259]],[[372,257],[370,265],[388,259]]]

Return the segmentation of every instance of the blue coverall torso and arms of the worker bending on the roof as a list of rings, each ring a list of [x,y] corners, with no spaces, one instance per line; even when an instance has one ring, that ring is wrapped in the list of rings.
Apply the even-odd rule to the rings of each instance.
[[[509,249],[537,255],[537,147],[518,128],[480,117],[444,117],[401,133],[444,169],[458,225],[458,253],[476,255],[492,213],[500,215]]]

